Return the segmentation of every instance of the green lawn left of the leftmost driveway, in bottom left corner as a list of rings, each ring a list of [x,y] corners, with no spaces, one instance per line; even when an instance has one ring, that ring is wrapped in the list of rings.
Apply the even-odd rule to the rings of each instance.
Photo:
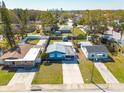
[[[8,72],[7,70],[2,70],[0,67],[0,85],[7,85],[12,79],[14,72]]]

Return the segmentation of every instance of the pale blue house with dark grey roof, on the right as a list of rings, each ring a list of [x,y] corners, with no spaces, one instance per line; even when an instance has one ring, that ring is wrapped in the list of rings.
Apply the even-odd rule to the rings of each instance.
[[[108,49],[104,45],[81,44],[81,50],[88,59],[108,59]]]

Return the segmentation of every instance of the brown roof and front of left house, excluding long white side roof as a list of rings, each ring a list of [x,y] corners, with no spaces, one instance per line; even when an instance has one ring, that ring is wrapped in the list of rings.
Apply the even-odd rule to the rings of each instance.
[[[5,66],[18,67],[18,66],[32,66],[31,62],[19,61],[22,59],[26,53],[30,50],[32,46],[29,44],[24,44],[19,46],[13,51],[8,51],[0,57],[0,61],[3,61]]]

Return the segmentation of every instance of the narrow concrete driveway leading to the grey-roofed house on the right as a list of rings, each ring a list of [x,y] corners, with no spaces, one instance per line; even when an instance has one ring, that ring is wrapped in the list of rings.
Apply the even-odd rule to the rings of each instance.
[[[103,63],[94,63],[106,83],[119,83]]]

